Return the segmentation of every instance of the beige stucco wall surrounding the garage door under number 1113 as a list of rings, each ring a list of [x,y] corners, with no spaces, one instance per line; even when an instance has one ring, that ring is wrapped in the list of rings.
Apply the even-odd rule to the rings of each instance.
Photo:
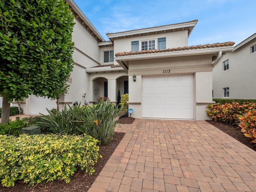
[[[170,69],[170,73],[163,70]],[[136,75],[133,82],[132,75]],[[206,120],[206,106],[212,102],[212,55],[136,60],[129,62],[129,108],[134,118],[142,118],[143,76],[194,74],[194,119]],[[197,104],[198,103],[198,104]]]

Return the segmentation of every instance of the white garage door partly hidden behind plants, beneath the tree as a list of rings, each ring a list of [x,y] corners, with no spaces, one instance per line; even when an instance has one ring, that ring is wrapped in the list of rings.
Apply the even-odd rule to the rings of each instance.
[[[30,114],[48,114],[46,108],[49,110],[57,108],[56,100],[36,97],[34,95],[30,97]]]

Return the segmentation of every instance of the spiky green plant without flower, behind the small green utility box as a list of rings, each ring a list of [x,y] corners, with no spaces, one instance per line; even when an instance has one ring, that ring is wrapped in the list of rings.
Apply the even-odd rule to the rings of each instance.
[[[46,109],[49,115],[41,114],[42,121],[39,121],[39,125],[48,127],[50,130],[53,130],[54,133],[59,134],[80,134],[78,127],[81,126],[82,122],[79,120],[81,116],[80,104],[77,106],[69,106],[68,108],[65,105],[64,110],[54,110],[51,112]]]

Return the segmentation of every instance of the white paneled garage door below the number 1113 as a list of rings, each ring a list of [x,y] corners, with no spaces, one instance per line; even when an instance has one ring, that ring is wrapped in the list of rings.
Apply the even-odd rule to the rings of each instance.
[[[193,75],[144,77],[142,117],[193,119]]]

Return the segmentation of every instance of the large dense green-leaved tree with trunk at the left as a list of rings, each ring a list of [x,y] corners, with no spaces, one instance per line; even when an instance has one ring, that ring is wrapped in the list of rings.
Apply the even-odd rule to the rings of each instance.
[[[0,0],[1,123],[10,102],[58,98],[72,72],[74,16],[64,0]]]

